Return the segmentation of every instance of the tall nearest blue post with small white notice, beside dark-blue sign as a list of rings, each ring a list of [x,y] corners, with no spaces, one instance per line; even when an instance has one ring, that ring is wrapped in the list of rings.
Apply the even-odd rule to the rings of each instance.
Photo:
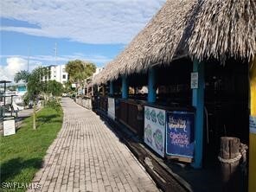
[[[198,88],[193,89],[192,105],[195,106],[195,159],[192,166],[202,168],[203,107],[204,107],[204,63],[193,62],[193,72],[198,72]]]

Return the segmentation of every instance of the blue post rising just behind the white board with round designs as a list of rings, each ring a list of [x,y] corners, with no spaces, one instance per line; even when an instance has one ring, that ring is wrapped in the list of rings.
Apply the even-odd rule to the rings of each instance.
[[[148,102],[155,103],[157,99],[157,90],[156,86],[156,70],[154,68],[150,68],[149,70],[149,78],[148,78]]]

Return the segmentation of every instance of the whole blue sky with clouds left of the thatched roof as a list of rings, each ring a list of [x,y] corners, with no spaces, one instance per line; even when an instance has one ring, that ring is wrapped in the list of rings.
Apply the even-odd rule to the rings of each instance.
[[[1,0],[0,80],[80,59],[104,67],[165,0]],[[56,48],[56,57],[55,57]]]

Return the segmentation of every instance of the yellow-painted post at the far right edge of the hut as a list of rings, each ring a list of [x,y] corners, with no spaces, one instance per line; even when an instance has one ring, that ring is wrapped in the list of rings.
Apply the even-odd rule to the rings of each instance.
[[[250,67],[249,192],[256,190],[256,54]]]

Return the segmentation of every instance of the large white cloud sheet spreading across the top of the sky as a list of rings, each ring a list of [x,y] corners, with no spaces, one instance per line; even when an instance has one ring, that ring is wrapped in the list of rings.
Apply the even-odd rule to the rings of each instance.
[[[144,28],[165,0],[4,0],[1,15],[35,24],[1,26],[28,35],[86,43],[127,43]]]

